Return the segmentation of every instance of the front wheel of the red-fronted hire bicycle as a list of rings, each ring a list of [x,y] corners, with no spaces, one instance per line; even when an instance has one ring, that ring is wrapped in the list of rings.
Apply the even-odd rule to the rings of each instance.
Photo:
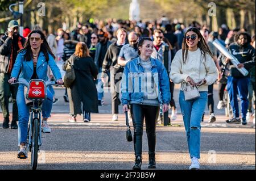
[[[33,120],[32,128],[32,149],[31,149],[31,167],[33,170],[38,165],[38,137],[39,137],[39,120],[37,117]]]

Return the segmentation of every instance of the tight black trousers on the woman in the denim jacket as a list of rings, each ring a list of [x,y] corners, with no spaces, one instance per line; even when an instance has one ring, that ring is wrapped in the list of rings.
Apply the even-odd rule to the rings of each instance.
[[[133,118],[134,127],[134,152],[136,156],[142,155],[142,136],[143,136],[143,122],[145,118],[148,154],[155,153],[156,144],[156,122],[158,119],[160,107],[146,106],[141,104],[131,104],[131,117]]]

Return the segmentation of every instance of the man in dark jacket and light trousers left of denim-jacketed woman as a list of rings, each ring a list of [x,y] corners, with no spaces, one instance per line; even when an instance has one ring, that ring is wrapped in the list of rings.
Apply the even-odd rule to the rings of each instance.
[[[121,103],[119,100],[119,84],[117,84],[121,78],[123,73],[123,66],[117,64],[118,56],[121,48],[125,45],[126,39],[126,30],[123,28],[119,28],[117,30],[117,41],[111,44],[106,52],[104,61],[102,63],[102,73],[106,73],[110,68],[110,83],[111,83],[111,92],[112,92],[112,114],[113,121],[118,121],[118,105]],[[102,82],[106,82],[106,77],[102,74]],[[115,87],[116,86],[116,87]]]

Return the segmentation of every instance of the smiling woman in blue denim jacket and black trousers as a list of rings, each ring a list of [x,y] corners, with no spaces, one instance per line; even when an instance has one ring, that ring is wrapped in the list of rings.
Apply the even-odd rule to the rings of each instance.
[[[151,58],[153,42],[149,37],[143,37],[138,44],[139,57],[130,60],[125,65],[122,77],[122,104],[123,111],[131,108],[131,117],[134,125],[134,170],[140,170],[142,164],[142,134],[145,118],[148,140],[149,169],[156,167],[156,121],[160,104],[163,111],[168,110],[170,102],[170,86],[166,69],[162,62]]]

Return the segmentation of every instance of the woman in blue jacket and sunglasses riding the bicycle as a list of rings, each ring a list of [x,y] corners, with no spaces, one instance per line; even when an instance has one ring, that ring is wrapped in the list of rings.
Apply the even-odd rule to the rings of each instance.
[[[47,66],[51,68],[57,84],[62,85],[60,69],[55,64],[55,56],[51,52],[46,37],[40,30],[34,30],[28,35],[28,39],[24,48],[20,50],[16,58],[13,71],[11,72],[11,79],[9,83],[14,83],[16,79],[24,78],[27,82],[31,79],[43,79],[47,81]],[[42,104],[42,129],[43,133],[50,133],[51,128],[47,123],[47,119],[52,110],[52,94],[47,89],[47,100]],[[27,129],[28,119],[30,116],[30,107],[26,105],[24,98],[24,86],[19,85],[17,92],[17,104],[19,112],[19,128],[18,128],[18,145],[20,147],[18,158],[27,158]]]

